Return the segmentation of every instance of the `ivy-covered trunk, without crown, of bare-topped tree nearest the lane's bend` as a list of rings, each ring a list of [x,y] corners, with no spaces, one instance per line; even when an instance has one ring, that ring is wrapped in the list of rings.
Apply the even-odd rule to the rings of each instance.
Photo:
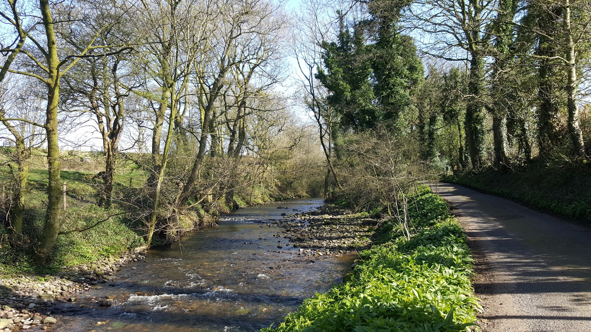
[[[470,152],[472,168],[482,167],[485,143],[485,108],[482,103],[484,86],[484,58],[472,52],[470,59],[470,75],[468,78],[468,94],[470,99],[466,106],[466,145]]]

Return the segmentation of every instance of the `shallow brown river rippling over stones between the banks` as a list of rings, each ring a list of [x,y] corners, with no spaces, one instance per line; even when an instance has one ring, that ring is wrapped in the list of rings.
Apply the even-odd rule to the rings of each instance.
[[[226,214],[218,227],[149,250],[145,261],[122,268],[114,281],[58,304],[59,323],[52,330],[229,332],[279,322],[305,298],[340,282],[355,259],[311,260],[273,236],[280,229],[272,222],[281,213],[322,204],[320,198],[300,198]],[[113,305],[100,307],[97,302],[107,297]]]

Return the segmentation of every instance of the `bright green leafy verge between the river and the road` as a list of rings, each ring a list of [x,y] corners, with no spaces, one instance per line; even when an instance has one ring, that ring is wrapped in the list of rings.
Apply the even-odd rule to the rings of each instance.
[[[449,207],[426,186],[409,205],[414,233],[384,221],[348,281],[309,298],[262,332],[470,331],[478,299],[466,236]]]

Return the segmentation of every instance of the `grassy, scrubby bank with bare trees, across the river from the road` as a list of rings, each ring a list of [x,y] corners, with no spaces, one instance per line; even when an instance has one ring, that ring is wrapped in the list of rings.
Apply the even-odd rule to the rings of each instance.
[[[1,156],[0,156],[1,157]],[[60,220],[60,232],[46,265],[37,265],[35,250],[41,243],[46,216],[47,170],[31,169],[28,173],[30,190],[25,197],[22,234],[12,230],[12,209],[6,193],[0,195],[0,278],[9,275],[54,275],[61,266],[92,264],[109,256],[119,256],[145,245],[148,227],[145,223],[150,208],[147,206],[146,181],[149,173],[130,161],[119,165],[114,175],[111,209],[101,206],[102,180],[100,172],[63,170],[61,181],[67,183],[64,209]],[[0,171],[0,183],[9,183],[11,175]],[[232,202],[226,196],[209,198],[209,203],[193,204],[178,218],[174,227],[158,224],[158,232],[152,238],[152,247],[167,246],[186,233],[213,226],[220,214],[236,207],[256,206],[309,193],[291,187],[258,187],[236,192]],[[149,205],[149,204],[148,204]],[[167,213],[163,212],[163,216]],[[163,217],[167,220],[167,217]],[[175,219],[175,218],[171,218]],[[174,232],[168,232],[170,228]]]

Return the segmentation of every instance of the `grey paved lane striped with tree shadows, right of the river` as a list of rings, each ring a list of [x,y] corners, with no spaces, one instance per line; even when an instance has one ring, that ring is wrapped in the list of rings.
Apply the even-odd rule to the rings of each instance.
[[[484,331],[591,331],[591,227],[456,184],[431,187],[469,238]]]

